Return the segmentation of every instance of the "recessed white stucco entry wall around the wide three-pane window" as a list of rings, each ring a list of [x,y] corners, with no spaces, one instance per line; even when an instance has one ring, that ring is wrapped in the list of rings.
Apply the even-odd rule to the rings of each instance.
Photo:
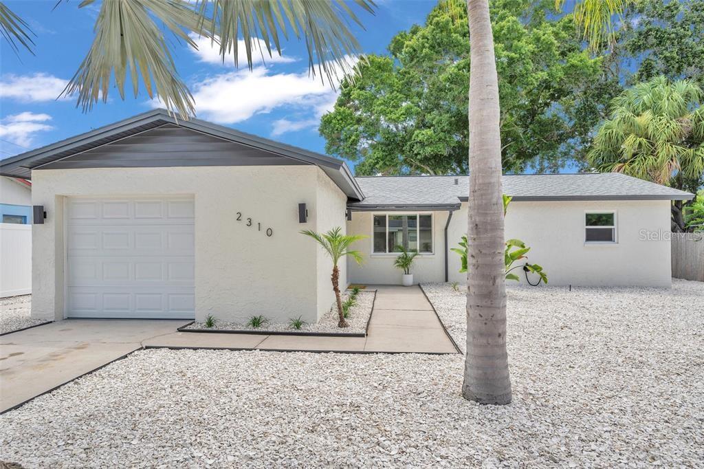
[[[348,263],[348,275],[351,283],[369,284],[401,284],[403,272],[394,267],[398,254],[373,254],[372,252],[372,220],[373,215],[380,212],[353,212],[352,220],[347,222],[349,234],[365,235],[366,239],[353,244],[364,255],[363,265]],[[401,215],[406,212],[393,212]],[[410,213],[410,212],[409,212]],[[444,230],[447,212],[413,212],[432,213],[433,215],[433,254],[419,254],[413,264],[413,282],[444,282],[445,254]]]

